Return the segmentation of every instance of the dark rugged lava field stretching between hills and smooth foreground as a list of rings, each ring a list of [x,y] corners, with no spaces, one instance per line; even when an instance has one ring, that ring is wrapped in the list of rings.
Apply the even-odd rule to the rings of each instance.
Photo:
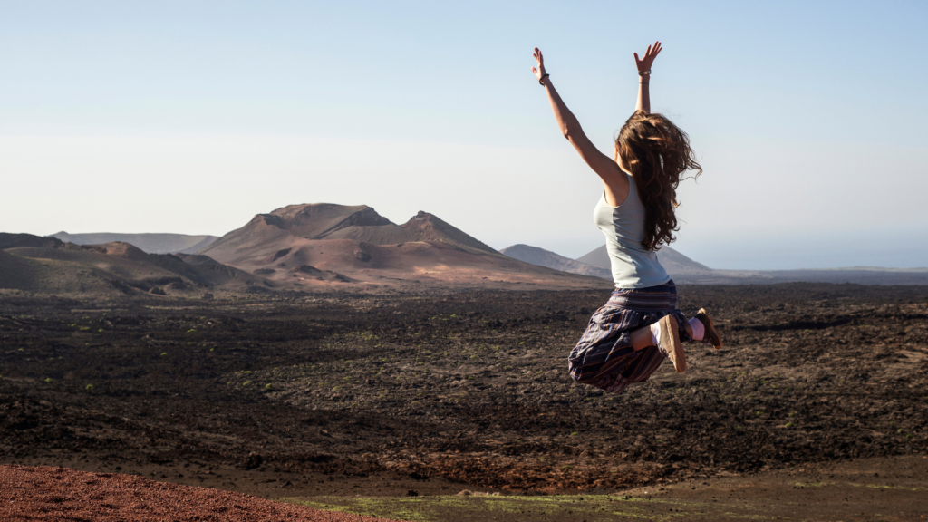
[[[665,363],[619,396],[566,372],[608,292],[6,293],[0,463],[312,498],[610,493],[928,455],[928,287],[680,293],[725,349],[692,345],[687,373]]]

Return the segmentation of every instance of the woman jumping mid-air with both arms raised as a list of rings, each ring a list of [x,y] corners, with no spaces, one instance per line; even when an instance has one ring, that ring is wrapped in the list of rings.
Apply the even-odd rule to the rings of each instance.
[[[638,102],[615,139],[612,158],[597,150],[564,105],[537,47],[532,68],[561,133],[602,179],[593,219],[606,236],[615,291],[589,320],[568,360],[574,380],[612,393],[647,381],[664,358],[677,372],[686,371],[683,341],[722,347],[704,309],[691,320],[677,309],[677,287],[657,259],[657,249],[674,241],[679,229],[674,209],[680,176],[688,170],[702,174],[690,137],[651,113],[651,64],[661,48],[660,42],[648,46],[642,59],[635,53]]]

